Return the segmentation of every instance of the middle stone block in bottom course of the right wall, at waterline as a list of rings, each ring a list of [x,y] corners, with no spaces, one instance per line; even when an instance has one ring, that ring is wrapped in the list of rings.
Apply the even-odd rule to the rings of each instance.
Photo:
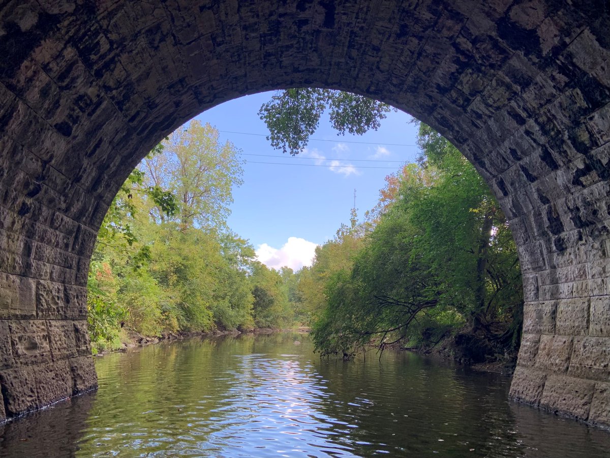
[[[540,407],[587,420],[594,390],[595,383],[590,380],[550,374],[540,398]]]

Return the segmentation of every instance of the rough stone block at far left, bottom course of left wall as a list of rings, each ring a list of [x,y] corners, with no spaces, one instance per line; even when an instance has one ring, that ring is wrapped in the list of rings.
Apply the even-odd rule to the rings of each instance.
[[[32,367],[0,371],[7,416],[19,415],[39,407],[34,371]]]

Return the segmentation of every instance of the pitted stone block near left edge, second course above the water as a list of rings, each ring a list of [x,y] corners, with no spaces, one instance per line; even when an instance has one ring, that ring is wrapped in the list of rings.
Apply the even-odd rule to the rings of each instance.
[[[44,321],[11,320],[9,333],[15,366],[51,362],[49,333]]]

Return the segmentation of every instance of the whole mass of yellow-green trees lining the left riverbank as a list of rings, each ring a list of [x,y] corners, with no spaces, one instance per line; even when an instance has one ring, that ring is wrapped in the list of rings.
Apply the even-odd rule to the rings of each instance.
[[[95,351],[120,346],[124,330],[253,329],[253,269],[279,278],[259,285],[273,304],[259,309],[258,322],[292,324],[282,277],[253,267],[253,247],[224,224],[232,186],[242,183],[238,153],[220,144],[212,126],[191,122],[157,145],[123,184],[99,230],[89,272]]]

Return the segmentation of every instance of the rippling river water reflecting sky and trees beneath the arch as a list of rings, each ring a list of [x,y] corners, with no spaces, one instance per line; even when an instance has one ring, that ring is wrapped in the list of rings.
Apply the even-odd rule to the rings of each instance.
[[[96,393],[7,424],[0,456],[610,456],[610,433],[508,401],[508,377],[407,352],[320,360],[279,333],[96,364]]]

